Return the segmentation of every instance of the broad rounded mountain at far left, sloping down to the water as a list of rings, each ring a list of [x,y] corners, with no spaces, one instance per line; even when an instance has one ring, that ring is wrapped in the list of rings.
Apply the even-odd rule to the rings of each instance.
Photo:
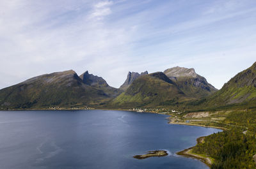
[[[20,84],[0,90],[1,108],[43,108],[94,105],[110,99],[83,83],[75,71],[56,72],[30,78]]]

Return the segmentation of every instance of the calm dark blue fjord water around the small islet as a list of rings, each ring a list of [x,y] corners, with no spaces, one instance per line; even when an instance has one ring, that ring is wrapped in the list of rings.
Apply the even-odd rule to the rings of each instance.
[[[166,117],[113,110],[0,112],[0,168],[208,168],[175,152],[220,130],[172,125]],[[170,155],[132,158],[154,150]]]

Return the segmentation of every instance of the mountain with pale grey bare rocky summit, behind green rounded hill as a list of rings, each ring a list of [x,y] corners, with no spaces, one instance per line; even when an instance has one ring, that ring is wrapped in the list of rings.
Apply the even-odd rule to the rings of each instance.
[[[187,96],[203,98],[218,91],[207,80],[196,74],[193,68],[174,67],[164,71],[164,74],[177,84],[179,89]]]

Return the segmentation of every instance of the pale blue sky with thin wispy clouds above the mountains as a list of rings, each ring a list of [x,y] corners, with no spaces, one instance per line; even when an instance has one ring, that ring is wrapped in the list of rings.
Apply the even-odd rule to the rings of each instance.
[[[220,89],[256,61],[256,1],[0,1],[0,58],[0,89],[65,70],[120,87],[174,66]]]

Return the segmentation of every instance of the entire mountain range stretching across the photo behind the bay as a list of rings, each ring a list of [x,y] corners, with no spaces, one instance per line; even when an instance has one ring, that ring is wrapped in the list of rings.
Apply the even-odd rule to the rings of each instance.
[[[174,67],[148,74],[129,72],[119,89],[102,77],[73,70],[30,78],[0,90],[1,109],[218,107],[256,98],[256,62],[218,91],[193,68]]]

